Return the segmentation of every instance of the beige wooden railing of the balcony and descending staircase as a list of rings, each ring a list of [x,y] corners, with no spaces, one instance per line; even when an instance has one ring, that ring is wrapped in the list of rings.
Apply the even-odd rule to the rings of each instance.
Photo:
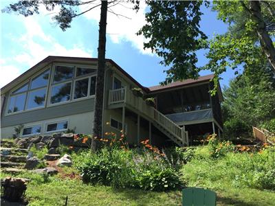
[[[182,143],[188,145],[188,132],[181,128],[175,122],[170,120],[164,114],[157,111],[152,106],[148,106],[142,98],[133,95],[133,92],[126,87],[122,89],[113,89],[109,91],[109,104],[126,103],[131,105],[140,113],[153,119],[157,124],[165,128],[168,133],[173,135],[176,139]]]

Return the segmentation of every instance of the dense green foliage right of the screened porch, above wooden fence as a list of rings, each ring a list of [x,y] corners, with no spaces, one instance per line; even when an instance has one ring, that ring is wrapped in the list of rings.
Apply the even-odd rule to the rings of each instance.
[[[252,126],[261,126],[274,119],[274,77],[271,67],[263,65],[259,68],[255,65],[246,69],[230,82],[230,87],[224,89],[222,112],[225,137],[233,139],[248,134]]]

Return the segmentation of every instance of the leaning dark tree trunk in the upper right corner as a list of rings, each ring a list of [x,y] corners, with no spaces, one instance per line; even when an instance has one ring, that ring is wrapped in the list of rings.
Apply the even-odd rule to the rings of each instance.
[[[266,30],[266,24],[263,20],[263,15],[261,13],[261,3],[260,1],[251,1],[250,0],[250,12],[256,22],[257,25],[257,34],[259,36],[259,40],[261,43],[261,47],[263,48],[263,52],[267,56],[267,59],[270,61],[270,64],[275,69],[275,48],[272,43],[272,39]]]

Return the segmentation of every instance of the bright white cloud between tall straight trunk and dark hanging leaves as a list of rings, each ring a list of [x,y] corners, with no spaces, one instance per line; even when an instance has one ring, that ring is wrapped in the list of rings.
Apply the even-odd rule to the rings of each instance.
[[[138,12],[136,12],[132,8],[133,4],[127,2],[122,2],[121,4],[114,5],[113,7],[109,8],[109,12],[107,14],[107,34],[110,36],[113,43],[130,41],[132,45],[139,49],[142,54],[153,55],[150,49],[143,49],[143,43],[145,41],[144,36],[136,35],[137,31],[146,24],[146,3],[145,1],[140,1],[140,10],[138,10]],[[80,9],[81,11],[85,11],[88,8],[87,6],[83,6]],[[118,14],[118,16],[116,16],[112,12]],[[87,19],[93,19],[99,22],[100,7],[93,9],[91,12],[86,12],[84,16]],[[127,19],[124,16],[131,19]]]

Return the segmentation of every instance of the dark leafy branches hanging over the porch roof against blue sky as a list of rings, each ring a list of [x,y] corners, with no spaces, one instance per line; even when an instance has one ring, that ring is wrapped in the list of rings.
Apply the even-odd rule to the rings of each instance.
[[[146,25],[137,34],[148,39],[144,48],[151,49],[162,58],[162,65],[170,67],[165,71],[165,84],[199,76],[195,52],[205,48],[203,40],[207,38],[199,28],[202,3],[146,1],[150,7],[145,14]]]

